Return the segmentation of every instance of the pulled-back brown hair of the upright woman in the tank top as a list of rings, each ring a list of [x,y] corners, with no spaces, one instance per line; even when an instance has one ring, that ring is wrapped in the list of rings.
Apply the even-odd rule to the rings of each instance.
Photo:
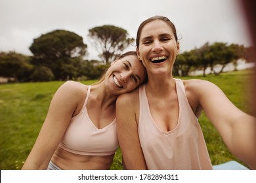
[[[173,34],[175,36],[175,40],[176,42],[178,42],[178,37],[177,37],[177,31],[176,31],[176,28],[175,28],[175,25],[173,24],[173,22],[171,22],[171,20],[169,20],[169,18],[165,17],[165,16],[152,16],[146,20],[144,20],[139,28],[138,28],[138,31],[137,31],[137,37],[136,37],[136,46],[137,48],[139,48],[139,43],[140,43],[140,35],[141,35],[141,31],[143,29],[143,27],[150,23],[150,22],[153,22],[154,20],[162,20],[163,22],[166,22],[170,27],[171,29],[173,30]]]

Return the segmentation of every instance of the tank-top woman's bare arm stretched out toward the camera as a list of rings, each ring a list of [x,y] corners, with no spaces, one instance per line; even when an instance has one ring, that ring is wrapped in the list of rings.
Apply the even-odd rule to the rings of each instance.
[[[194,96],[226,146],[251,169],[256,169],[256,118],[237,108],[215,84],[199,81],[197,85]]]

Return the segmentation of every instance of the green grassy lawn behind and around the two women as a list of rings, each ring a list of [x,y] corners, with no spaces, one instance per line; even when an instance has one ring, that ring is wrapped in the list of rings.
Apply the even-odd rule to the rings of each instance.
[[[251,101],[247,97],[250,76],[249,71],[237,71],[220,76],[193,78],[201,78],[217,84],[234,105],[251,113],[253,109],[249,107]],[[189,78],[192,77],[182,79]],[[95,80],[83,83],[92,84],[93,82]],[[51,98],[63,83],[35,82],[0,85],[0,169],[21,169],[41,129]],[[204,114],[200,116],[199,121],[213,165],[230,160],[239,161],[230,154],[219,133]],[[112,169],[122,169],[119,149]]]

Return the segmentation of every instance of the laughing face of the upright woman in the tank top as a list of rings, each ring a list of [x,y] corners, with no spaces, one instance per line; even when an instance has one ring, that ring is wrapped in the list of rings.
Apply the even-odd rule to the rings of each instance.
[[[171,27],[162,20],[144,25],[140,34],[137,54],[146,67],[148,75],[170,75],[179,53],[179,42]]]

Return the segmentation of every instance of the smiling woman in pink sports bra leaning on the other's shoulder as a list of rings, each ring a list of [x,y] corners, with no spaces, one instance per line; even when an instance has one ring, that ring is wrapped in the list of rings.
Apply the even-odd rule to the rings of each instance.
[[[127,52],[92,86],[65,82],[22,169],[110,169],[118,147],[117,96],[145,79],[136,52]]]

